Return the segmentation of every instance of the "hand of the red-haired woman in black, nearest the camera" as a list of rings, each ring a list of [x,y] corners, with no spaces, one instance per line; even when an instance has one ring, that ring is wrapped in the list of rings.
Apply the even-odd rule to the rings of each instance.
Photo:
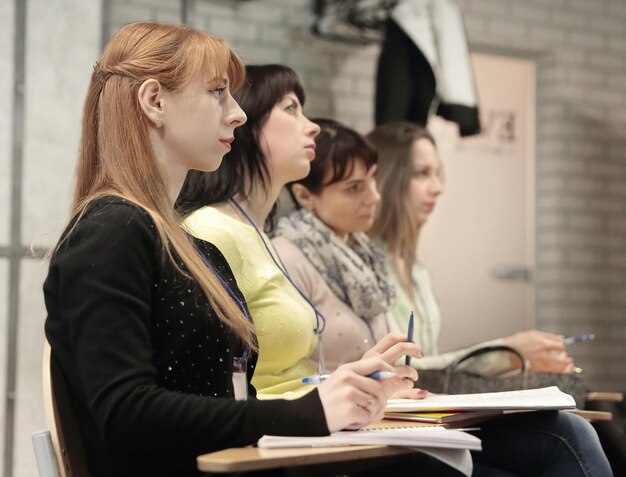
[[[383,418],[387,404],[383,383],[404,380],[367,377],[376,371],[396,372],[380,358],[362,359],[340,366],[317,387],[330,432],[360,429]]]

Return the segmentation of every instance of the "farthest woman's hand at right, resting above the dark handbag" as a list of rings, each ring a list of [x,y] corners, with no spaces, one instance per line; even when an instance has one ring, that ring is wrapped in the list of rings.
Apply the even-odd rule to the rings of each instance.
[[[534,371],[571,373],[574,368],[574,360],[565,351],[561,335],[526,330],[507,336],[504,343],[522,353]]]

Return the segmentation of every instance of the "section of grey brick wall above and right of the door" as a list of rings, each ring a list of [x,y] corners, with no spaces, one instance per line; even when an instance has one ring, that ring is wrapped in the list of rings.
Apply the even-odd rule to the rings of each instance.
[[[624,389],[626,2],[459,4],[473,45],[537,58],[537,324],[595,333],[572,354]]]

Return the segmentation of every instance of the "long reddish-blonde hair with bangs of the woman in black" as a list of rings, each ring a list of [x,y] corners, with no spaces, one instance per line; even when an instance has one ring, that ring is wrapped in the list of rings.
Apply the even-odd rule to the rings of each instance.
[[[237,89],[245,69],[225,41],[184,26],[133,23],[113,36],[87,91],[71,216],[80,217],[103,195],[123,197],[143,208],[154,221],[167,258],[180,270],[173,252],[180,257],[219,319],[255,347],[253,325],[180,227],[137,99],[147,79],[177,92],[201,73],[220,81],[228,75],[231,88]]]

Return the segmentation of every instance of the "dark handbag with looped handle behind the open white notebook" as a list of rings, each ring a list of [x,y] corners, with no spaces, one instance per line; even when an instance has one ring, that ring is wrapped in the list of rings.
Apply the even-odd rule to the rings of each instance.
[[[483,376],[460,369],[460,365],[485,353],[509,352],[516,355],[521,369],[514,374]],[[515,391],[519,389],[535,389],[547,386],[558,386],[564,393],[570,394],[579,409],[584,408],[586,389],[582,370],[572,373],[535,372],[530,362],[515,348],[506,345],[483,346],[457,357],[443,369],[418,370],[417,386],[433,393],[470,394],[497,391]]]

